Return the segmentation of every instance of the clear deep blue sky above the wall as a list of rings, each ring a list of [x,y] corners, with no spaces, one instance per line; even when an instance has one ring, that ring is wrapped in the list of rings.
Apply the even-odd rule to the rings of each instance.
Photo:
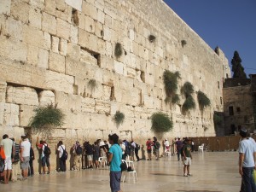
[[[212,49],[222,49],[229,62],[237,50],[246,73],[256,73],[256,0],[164,1]]]

